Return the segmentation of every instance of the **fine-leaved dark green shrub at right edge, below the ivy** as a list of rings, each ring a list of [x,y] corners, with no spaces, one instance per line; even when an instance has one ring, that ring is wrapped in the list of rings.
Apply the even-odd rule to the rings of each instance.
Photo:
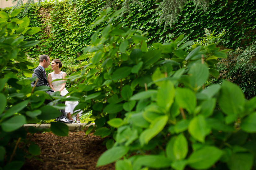
[[[217,69],[220,76],[213,81],[220,83],[223,79],[229,80],[240,86],[246,98],[253,98],[256,95],[255,49],[254,42],[238,55],[235,55],[236,52],[230,52],[226,60],[218,63]]]

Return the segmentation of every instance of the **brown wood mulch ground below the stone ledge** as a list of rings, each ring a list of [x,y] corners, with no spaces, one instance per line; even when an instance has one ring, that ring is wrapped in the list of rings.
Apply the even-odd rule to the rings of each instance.
[[[31,138],[30,138],[31,137]],[[103,139],[84,132],[69,132],[69,136],[60,137],[53,133],[28,134],[28,138],[41,148],[41,155],[27,159],[25,169],[50,170],[114,170],[115,164],[96,168],[97,160],[106,151]]]

